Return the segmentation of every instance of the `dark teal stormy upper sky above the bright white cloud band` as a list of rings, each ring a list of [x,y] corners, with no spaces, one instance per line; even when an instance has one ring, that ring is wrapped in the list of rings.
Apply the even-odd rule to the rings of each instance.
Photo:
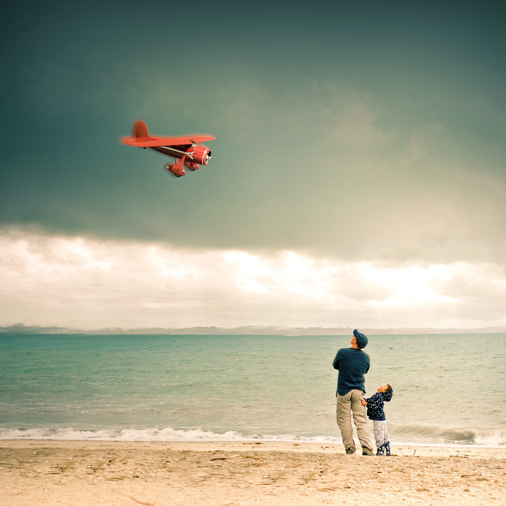
[[[503,265],[504,10],[4,8],[2,226]],[[170,159],[119,143],[137,118],[214,135],[212,161],[171,177]]]

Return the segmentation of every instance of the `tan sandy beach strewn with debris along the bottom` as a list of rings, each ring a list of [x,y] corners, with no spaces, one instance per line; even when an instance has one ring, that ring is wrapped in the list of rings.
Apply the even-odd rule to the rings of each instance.
[[[0,441],[0,505],[506,504],[506,449]]]

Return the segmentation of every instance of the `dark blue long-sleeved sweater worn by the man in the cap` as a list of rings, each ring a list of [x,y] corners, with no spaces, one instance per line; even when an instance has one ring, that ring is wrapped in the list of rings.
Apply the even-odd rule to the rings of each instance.
[[[364,374],[369,370],[370,358],[367,353],[355,348],[341,348],[332,362],[339,370],[338,394],[346,395],[350,390],[362,390],[365,394]]]

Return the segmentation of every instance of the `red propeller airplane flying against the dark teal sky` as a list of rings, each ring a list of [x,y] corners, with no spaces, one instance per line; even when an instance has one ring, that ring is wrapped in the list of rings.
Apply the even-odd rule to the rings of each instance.
[[[174,163],[168,163],[165,168],[174,176],[180,178],[186,174],[185,168],[196,171],[199,165],[207,165],[211,159],[211,152],[205,146],[197,146],[199,142],[212,141],[216,137],[197,134],[183,137],[150,136],[148,127],[140,119],[134,123],[134,137],[123,137],[121,142],[129,146],[139,146],[154,149],[164,155],[172,156]]]

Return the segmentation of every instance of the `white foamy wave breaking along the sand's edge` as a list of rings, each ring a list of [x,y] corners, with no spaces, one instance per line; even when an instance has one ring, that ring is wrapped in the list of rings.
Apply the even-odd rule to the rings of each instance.
[[[417,445],[506,445],[506,429],[441,429],[431,426],[403,426],[389,431],[393,444]],[[200,429],[94,429],[1,428],[0,439],[67,439],[110,441],[289,441],[341,443],[340,437],[299,436],[296,434],[246,434],[237,431],[213,432]]]

